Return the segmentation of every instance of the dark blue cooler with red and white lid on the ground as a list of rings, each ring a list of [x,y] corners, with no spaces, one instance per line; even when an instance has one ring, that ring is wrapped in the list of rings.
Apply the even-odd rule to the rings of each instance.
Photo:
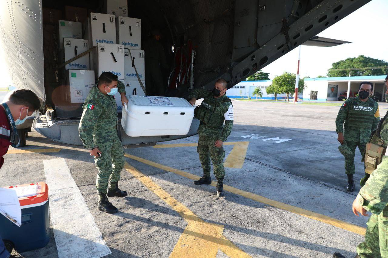
[[[49,187],[44,182],[9,186],[16,190],[22,210],[18,227],[0,215],[0,235],[22,253],[46,246],[50,241]]]

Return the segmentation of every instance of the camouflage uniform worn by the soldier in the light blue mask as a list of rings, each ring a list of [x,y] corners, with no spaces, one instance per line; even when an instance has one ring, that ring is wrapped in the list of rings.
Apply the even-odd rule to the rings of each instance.
[[[125,93],[125,86],[118,81],[118,91]],[[118,138],[117,105],[113,96],[100,92],[97,84],[90,89],[85,103],[78,130],[83,146],[88,150],[97,147],[101,151],[100,157],[94,157],[98,169],[96,188],[98,193],[106,193],[109,180],[111,183],[120,180],[120,173],[124,167],[124,150]],[[101,198],[101,196],[100,196]]]

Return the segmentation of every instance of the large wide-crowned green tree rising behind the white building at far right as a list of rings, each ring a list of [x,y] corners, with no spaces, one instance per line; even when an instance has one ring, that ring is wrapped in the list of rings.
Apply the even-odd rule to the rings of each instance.
[[[388,62],[385,62],[381,59],[365,57],[364,55],[359,55],[358,57],[349,57],[345,60],[338,61],[333,63],[331,69],[350,69],[350,68],[360,68],[360,70],[341,70],[333,71],[329,69],[327,72],[328,77],[344,77],[344,76],[371,76],[371,75],[385,75],[388,72],[388,68],[383,69],[367,69],[363,70],[361,68],[367,67],[380,67],[388,66]]]

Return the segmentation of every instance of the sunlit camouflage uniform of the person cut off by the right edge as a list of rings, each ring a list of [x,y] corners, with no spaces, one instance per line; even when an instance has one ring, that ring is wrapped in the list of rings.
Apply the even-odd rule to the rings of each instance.
[[[380,138],[388,143],[388,119],[383,122]],[[371,141],[372,143],[373,140]],[[372,213],[367,222],[365,241],[357,246],[360,258],[388,257],[388,153],[360,189],[360,204]]]

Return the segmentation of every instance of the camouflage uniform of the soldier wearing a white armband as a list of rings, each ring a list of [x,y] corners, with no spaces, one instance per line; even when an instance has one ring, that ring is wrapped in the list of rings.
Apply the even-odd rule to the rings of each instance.
[[[223,179],[225,176],[225,169],[223,167],[223,158],[225,151],[223,146],[217,148],[214,144],[217,140],[226,141],[233,126],[233,106],[230,102],[223,102],[229,100],[226,95],[219,98],[214,98],[213,92],[204,89],[196,89],[192,91],[189,98],[200,99],[203,101],[216,105],[211,121],[205,125],[201,123],[198,127],[198,147],[199,161],[203,168],[204,177],[210,176],[210,159],[213,162],[214,175],[218,179]],[[222,103],[221,103],[222,102]],[[229,114],[227,120],[225,116]],[[225,125],[223,122],[225,120]]]

